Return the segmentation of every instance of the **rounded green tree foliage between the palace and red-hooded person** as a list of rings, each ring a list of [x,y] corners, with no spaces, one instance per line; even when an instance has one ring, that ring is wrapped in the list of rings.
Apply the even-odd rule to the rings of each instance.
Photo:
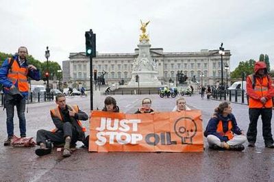
[[[254,72],[255,63],[256,61],[252,59],[245,62],[240,62],[238,67],[232,71],[230,77],[232,79],[241,78],[242,73],[245,73],[245,75],[251,75]]]

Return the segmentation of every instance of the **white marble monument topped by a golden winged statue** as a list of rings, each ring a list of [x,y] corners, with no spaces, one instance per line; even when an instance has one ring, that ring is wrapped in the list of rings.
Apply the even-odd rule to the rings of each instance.
[[[149,52],[151,44],[149,44],[149,36],[146,34],[146,27],[148,24],[149,22],[142,23],[141,21],[140,30],[142,31],[142,34],[140,35],[140,43],[138,44],[139,55],[133,62],[132,79],[127,86],[138,87],[136,75],[138,75],[140,87],[161,86],[161,83],[158,80],[157,62],[153,61]]]

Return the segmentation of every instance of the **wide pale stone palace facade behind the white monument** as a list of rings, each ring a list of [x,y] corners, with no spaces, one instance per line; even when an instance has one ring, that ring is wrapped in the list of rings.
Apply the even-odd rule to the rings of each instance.
[[[187,82],[193,76],[203,85],[214,85],[221,82],[221,55],[219,50],[202,49],[196,52],[164,52],[162,48],[151,48],[151,57],[158,64],[158,79],[164,83],[176,80],[177,71],[187,75]],[[230,68],[229,50],[223,55],[223,81],[225,83]],[[92,68],[97,70],[97,77],[103,72],[105,83],[119,83],[122,79],[125,84],[132,78],[132,63],[138,57],[138,49],[134,53],[97,53],[92,58]],[[225,65],[228,70],[225,70]],[[90,88],[90,59],[86,53],[70,53],[69,60],[62,62],[63,82],[77,87],[79,84]],[[228,73],[228,75],[227,75]],[[203,76],[202,76],[203,75]]]

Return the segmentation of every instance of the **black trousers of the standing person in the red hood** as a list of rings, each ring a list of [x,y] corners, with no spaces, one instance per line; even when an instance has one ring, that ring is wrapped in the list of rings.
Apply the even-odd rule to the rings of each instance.
[[[257,137],[257,123],[259,116],[262,116],[262,136],[264,137],[264,144],[273,144],[271,133],[271,118],[272,108],[249,108],[249,129],[247,131],[247,140],[251,143],[256,142]]]

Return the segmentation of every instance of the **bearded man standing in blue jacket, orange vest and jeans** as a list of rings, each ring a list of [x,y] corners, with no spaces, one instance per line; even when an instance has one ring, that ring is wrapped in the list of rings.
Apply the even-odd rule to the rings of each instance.
[[[40,73],[35,66],[27,64],[27,48],[19,47],[18,55],[7,58],[0,68],[0,83],[3,84],[5,94],[8,131],[8,138],[4,141],[4,146],[10,145],[14,135],[14,105],[17,109],[21,138],[26,137],[25,103],[29,92],[27,77],[39,81]],[[16,98],[12,99],[15,94]],[[22,97],[18,99],[18,95]]]

